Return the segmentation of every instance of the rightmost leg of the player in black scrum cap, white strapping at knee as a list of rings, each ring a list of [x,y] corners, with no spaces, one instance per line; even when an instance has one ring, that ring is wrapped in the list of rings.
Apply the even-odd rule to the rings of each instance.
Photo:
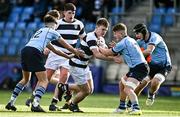
[[[151,85],[148,91],[148,99],[146,100],[146,105],[151,106],[154,103],[155,94],[157,93],[160,85],[165,81],[165,76],[161,73],[154,75],[154,78],[151,80]]]

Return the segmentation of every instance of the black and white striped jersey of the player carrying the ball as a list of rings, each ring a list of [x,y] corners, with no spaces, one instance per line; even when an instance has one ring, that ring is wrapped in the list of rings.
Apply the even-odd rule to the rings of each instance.
[[[101,42],[103,42],[105,44],[103,37],[101,37],[99,39],[103,40]],[[93,52],[91,50],[94,48],[98,48],[97,42],[99,39],[98,39],[97,35],[95,34],[95,32],[88,33],[86,35],[86,37],[81,41],[81,44],[80,44],[80,49],[81,49],[81,51],[83,51],[84,57],[78,58],[77,56],[75,56],[74,58],[72,58],[69,61],[69,64],[71,66],[86,68],[89,63],[89,60],[93,56]]]

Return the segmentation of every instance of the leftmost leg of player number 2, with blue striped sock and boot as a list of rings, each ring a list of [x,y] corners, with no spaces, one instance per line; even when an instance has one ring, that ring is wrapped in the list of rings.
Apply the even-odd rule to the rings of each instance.
[[[22,70],[23,78],[21,81],[19,81],[18,84],[16,84],[13,93],[11,95],[11,98],[9,100],[9,103],[6,105],[6,109],[16,111],[16,107],[14,106],[14,103],[18,97],[18,95],[22,92],[25,85],[28,83],[28,81],[31,78],[31,72],[23,71]]]

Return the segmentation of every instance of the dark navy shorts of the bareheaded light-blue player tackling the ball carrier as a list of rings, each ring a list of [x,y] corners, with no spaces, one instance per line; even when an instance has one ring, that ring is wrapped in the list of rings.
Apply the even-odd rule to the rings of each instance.
[[[130,68],[129,72],[126,74],[127,77],[132,77],[138,81],[142,81],[149,73],[149,66],[145,63],[136,65],[134,68]]]

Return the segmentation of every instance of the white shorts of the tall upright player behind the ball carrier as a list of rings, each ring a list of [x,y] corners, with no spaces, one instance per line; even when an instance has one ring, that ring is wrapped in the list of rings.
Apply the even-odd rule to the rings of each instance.
[[[60,67],[69,69],[69,59],[50,52],[46,60],[45,68],[57,70]]]

